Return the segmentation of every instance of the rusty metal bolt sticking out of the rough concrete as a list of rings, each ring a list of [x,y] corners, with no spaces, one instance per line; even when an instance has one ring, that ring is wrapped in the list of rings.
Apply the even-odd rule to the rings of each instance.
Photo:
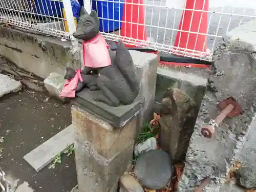
[[[215,133],[215,129],[226,117],[233,118],[244,112],[241,105],[233,97],[228,97],[222,100],[219,102],[218,107],[222,112],[214,120],[210,120],[209,124],[201,129],[201,133],[204,137],[211,138]]]

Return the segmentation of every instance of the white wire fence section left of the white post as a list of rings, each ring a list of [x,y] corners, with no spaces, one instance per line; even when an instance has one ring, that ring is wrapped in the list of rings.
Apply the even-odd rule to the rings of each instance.
[[[0,0],[0,22],[69,39],[61,0]]]

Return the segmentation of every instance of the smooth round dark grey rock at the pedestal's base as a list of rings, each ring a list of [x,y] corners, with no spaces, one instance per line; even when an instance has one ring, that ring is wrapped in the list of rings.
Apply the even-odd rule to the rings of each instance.
[[[173,176],[172,160],[162,150],[143,153],[137,160],[134,170],[139,182],[149,189],[165,187]]]

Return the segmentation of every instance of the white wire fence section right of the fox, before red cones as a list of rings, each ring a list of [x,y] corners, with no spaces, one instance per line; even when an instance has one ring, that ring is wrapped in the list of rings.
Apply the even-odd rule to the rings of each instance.
[[[113,0],[93,1],[99,2],[98,5],[103,4],[102,6],[100,6],[100,8],[99,6],[96,8],[97,12],[102,12],[102,10],[100,10],[102,9],[102,7],[108,6],[108,4],[110,3],[113,4]],[[191,0],[187,1],[191,2]],[[144,6],[144,27],[146,28],[147,36],[151,37],[146,41],[138,38],[123,37],[121,36],[120,31],[117,31],[115,33],[108,33],[109,30],[106,30],[106,32],[102,32],[102,34],[103,36],[105,36],[106,39],[109,40],[125,40],[128,44],[131,45],[140,45],[141,47],[147,47],[166,53],[176,52],[177,55],[195,57],[202,60],[210,61],[212,59],[214,49],[217,46],[217,43],[219,42],[221,37],[223,37],[231,29],[236,28],[256,17],[256,1],[245,0],[241,3],[241,0],[209,0],[208,11],[201,11],[195,9],[195,4],[198,1],[200,1],[201,3],[203,2],[203,6],[205,6],[207,3],[207,1],[205,0],[194,0],[193,9],[185,9],[185,0],[144,0],[143,4],[129,3],[133,6]],[[135,0],[132,2],[135,2]],[[125,4],[125,2],[122,2],[120,0],[118,0],[117,3],[120,5]],[[113,10],[111,6],[109,6],[109,10]],[[93,4],[92,9],[95,9],[95,6],[93,7]],[[184,12],[184,10],[191,11],[192,17],[193,14],[197,11],[207,12],[207,31],[205,33],[200,33],[198,31],[192,32],[189,30],[180,30],[179,24],[181,22],[182,13]],[[131,11],[131,14],[134,14],[133,11]],[[106,25],[110,25],[110,23],[113,22],[119,22],[119,20],[113,19],[113,17],[110,18],[109,15],[109,12],[105,12],[100,17],[100,19],[108,21]],[[139,14],[137,15],[139,17]],[[122,18],[122,16],[120,16],[120,18]],[[129,23],[125,19],[121,19],[120,26],[122,27],[125,22]],[[201,19],[199,19],[199,26],[201,26]],[[178,31],[187,32],[188,35],[205,35],[205,44],[207,50],[188,50],[184,47],[175,47],[174,44]],[[177,49],[179,51],[177,51]]]

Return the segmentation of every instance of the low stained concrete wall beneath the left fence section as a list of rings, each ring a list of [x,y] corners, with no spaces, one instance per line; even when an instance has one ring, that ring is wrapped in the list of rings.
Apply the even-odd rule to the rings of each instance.
[[[0,27],[0,54],[42,78],[52,72],[64,75],[66,67],[80,68],[80,54],[73,52],[70,41],[11,28]]]

